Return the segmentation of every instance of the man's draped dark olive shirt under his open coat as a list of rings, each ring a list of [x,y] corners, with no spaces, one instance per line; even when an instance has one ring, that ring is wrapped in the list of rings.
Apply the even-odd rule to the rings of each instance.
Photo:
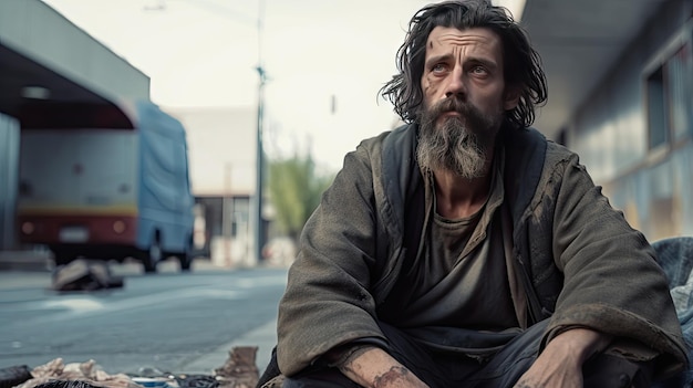
[[[401,328],[421,332],[427,326],[446,326],[499,332],[519,326],[503,247],[504,149],[499,147],[495,155],[492,189],[475,214],[445,219],[437,214],[432,196],[433,217],[425,227],[423,258],[417,261],[425,276],[410,285],[414,290],[412,298],[393,318]],[[433,191],[433,175],[424,175]]]

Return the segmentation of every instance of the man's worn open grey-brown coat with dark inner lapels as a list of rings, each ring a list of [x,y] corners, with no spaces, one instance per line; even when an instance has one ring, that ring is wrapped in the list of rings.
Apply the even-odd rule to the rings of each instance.
[[[346,155],[306,224],[279,306],[283,375],[340,346],[387,349],[379,322],[396,327],[411,284],[425,276],[417,261],[432,193],[415,159],[416,132],[405,125]],[[549,319],[542,346],[566,329],[597,329],[618,338],[609,352],[680,370],[681,327],[644,237],[609,206],[577,155],[535,129],[503,128],[498,141],[520,328]]]

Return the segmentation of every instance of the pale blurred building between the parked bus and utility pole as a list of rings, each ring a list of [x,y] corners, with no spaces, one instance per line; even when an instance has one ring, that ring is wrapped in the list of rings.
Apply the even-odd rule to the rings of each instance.
[[[186,128],[193,195],[203,255],[221,266],[251,265],[255,218],[257,109],[167,107]],[[265,229],[267,230],[267,228]],[[198,233],[200,234],[200,233]]]

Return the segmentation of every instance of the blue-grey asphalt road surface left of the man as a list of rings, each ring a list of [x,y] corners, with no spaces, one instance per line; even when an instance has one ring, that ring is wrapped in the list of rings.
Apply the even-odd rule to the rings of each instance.
[[[210,373],[230,346],[252,342],[265,342],[258,365],[266,365],[286,269],[112,268],[122,289],[71,293],[52,291],[50,272],[0,272],[0,367],[61,357],[93,359],[110,374]]]

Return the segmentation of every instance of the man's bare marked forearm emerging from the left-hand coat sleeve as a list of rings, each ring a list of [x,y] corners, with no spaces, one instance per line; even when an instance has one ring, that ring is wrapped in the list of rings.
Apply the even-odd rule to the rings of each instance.
[[[418,377],[379,347],[364,347],[354,352],[339,369],[362,387],[428,388]]]

